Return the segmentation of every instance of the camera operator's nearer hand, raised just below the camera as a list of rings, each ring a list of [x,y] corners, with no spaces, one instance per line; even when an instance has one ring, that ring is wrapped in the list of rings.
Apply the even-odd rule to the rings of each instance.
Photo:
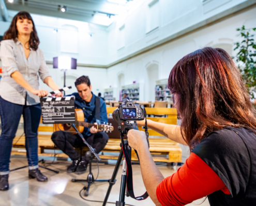
[[[145,132],[143,131],[139,131],[135,129],[129,130],[127,133],[127,140],[128,140],[129,146],[132,149],[135,149],[137,151],[144,147],[148,148],[147,137]]]

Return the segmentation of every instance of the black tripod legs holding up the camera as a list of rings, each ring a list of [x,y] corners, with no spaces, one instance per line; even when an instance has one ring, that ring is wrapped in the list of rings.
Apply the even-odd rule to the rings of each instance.
[[[128,151],[129,156],[131,157],[131,148],[128,145],[128,141],[125,140],[124,143],[125,143],[126,150]],[[122,144],[120,144],[120,146],[122,147]],[[105,199],[104,199],[104,202],[103,202],[102,206],[105,206],[107,204],[107,201],[108,201],[108,198],[109,198],[112,186],[116,182],[116,175],[117,175],[118,169],[119,169],[119,167],[121,165],[123,157],[124,157],[124,152],[123,152],[123,149],[121,149],[120,153],[119,153],[119,157],[118,157],[117,163],[115,165],[115,169],[114,169],[112,178],[109,181],[108,192],[107,192],[107,194],[105,196]],[[119,201],[116,201],[116,204],[115,204],[116,206],[124,206],[125,205],[126,178],[127,178],[127,167],[126,167],[125,158],[124,158],[124,162],[123,162],[123,170],[122,171],[123,172],[122,172],[122,180],[121,180],[121,188],[120,188],[120,194],[119,194]],[[128,193],[126,194],[126,196],[129,197]]]

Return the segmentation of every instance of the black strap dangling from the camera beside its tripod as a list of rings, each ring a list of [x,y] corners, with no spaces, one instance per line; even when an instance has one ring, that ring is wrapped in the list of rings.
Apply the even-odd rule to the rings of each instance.
[[[144,108],[144,112],[145,112],[145,133],[146,133],[147,143],[148,143],[148,148],[149,148],[148,131],[147,131],[147,119],[146,119],[145,108]],[[135,197],[134,192],[133,192],[132,166],[131,166],[131,157],[129,156],[129,153],[131,153],[131,152],[128,151],[131,148],[125,146],[125,143],[124,143],[124,133],[121,130],[120,119],[118,119],[118,129],[121,131],[122,150],[123,150],[123,153],[124,153],[124,156],[125,156],[125,160],[126,160],[126,165],[127,165],[127,179],[126,179],[127,192],[129,194],[129,196],[131,198],[133,198],[133,199],[144,200],[144,199],[146,199],[148,197],[147,192],[145,192],[142,196],[139,196],[139,197]],[[134,150],[134,151],[135,151],[135,153],[136,153],[136,155],[138,157],[138,160],[140,161],[137,151],[136,150]]]

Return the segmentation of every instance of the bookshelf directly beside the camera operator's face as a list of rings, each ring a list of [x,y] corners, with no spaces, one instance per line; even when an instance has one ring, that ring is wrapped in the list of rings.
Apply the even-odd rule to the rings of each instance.
[[[173,102],[172,94],[167,88],[168,79],[161,79],[156,81],[156,101]]]

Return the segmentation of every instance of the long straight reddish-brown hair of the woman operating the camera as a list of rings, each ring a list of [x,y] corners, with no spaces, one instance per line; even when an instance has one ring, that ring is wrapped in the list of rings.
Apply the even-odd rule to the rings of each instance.
[[[168,87],[190,151],[213,131],[245,127],[255,133],[255,110],[235,63],[221,48],[205,47],[180,59]]]

